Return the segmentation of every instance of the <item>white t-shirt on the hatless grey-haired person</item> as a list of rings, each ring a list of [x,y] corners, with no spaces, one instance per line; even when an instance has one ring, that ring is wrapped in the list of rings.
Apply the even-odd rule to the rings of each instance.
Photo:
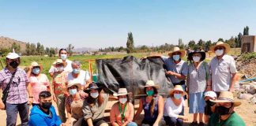
[[[84,71],[84,70],[80,70],[79,75],[77,76],[77,78],[74,78],[72,76],[72,72],[68,73],[67,76],[67,81],[69,82],[70,80],[76,80],[78,82],[81,83],[81,85],[85,85],[86,81],[90,79],[90,74],[88,73],[88,71]]]

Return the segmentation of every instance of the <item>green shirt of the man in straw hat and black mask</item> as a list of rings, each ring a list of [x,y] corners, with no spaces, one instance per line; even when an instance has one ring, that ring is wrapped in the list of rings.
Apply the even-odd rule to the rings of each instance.
[[[210,126],[245,126],[243,119],[237,114],[232,113],[227,120],[219,120],[220,116],[217,113],[213,113],[213,115],[209,119]]]

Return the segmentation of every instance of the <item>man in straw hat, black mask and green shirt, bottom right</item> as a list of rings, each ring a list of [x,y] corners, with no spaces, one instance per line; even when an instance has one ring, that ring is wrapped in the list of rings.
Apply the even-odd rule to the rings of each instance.
[[[210,99],[216,103],[215,113],[209,119],[209,126],[245,126],[244,120],[234,111],[236,106],[240,106],[241,102],[235,101],[232,92],[220,91],[217,100]]]

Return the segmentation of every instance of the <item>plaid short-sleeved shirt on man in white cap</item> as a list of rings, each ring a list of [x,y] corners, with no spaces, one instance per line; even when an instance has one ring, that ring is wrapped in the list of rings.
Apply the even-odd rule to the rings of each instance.
[[[12,73],[8,69],[2,69],[0,71],[0,88],[2,91],[6,89],[9,83]],[[10,83],[9,93],[6,102],[9,104],[21,104],[28,102],[27,95],[27,84],[29,83],[28,76],[23,69],[17,69],[15,76],[13,77],[13,82]]]

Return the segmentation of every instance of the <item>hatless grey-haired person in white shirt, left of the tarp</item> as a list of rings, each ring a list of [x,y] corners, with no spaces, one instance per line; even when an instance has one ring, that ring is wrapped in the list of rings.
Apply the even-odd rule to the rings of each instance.
[[[88,88],[88,84],[91,82],[91,77],[88,71],[81,69],[80,61],[72,61],[72,72],[68,73],[67,81],[76,80],[81,83],[81,90]]]

